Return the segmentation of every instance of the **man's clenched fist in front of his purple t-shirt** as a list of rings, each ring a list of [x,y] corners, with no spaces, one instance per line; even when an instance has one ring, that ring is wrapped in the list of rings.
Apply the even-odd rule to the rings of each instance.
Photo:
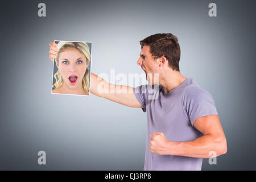
[[[169,155],[168,146],[170,142],[163,133],[152,133],[150,135],[150,151],[159,155]]]

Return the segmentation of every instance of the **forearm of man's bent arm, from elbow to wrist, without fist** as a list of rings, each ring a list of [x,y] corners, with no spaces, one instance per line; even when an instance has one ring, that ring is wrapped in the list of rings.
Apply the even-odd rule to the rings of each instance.
[[[225,154],[226,140],[206,134],[188,142],[168,142],[168,152],[170,155],[210,158],[210,151],[216,152],[217,156]]]

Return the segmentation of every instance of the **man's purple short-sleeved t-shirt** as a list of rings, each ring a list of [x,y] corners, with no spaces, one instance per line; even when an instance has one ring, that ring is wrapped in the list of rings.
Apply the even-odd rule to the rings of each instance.
[[[218,114],[212,95],[200,88],[193,78],[187,78],[168,93],[160,85],[141,85],[134,88],[134,93],[147,113],[144,170],[201,170],[201,158],[151,152],[150,134],[162,132],[173,142],[201,137],[203,134],[192,124],[197,118]]]

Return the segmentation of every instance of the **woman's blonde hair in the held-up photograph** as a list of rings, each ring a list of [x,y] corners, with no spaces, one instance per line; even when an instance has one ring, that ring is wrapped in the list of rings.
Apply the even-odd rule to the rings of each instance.
[[[89,46],[84,43],[84,42],[64,42],[60,41],[57,44],[58,52],[57,56],[55,58],[55,61],[59,63],[59,56],[61,52],[64,52],[66,49],[69,48],[76,48],[79,50],[81,53],[83,53],[86,57],[86,64],[90,62],[90,51],[89,51]],[[60,71],[58,71],[54,74],[55,78],[55,84],[52,85],[52,87],[59,88],[60,86],[63,85],[63,77],[60,74]],[[89,90],[89,66],[86,68],[84,77],[82,78],[82,88],[84,88],[85,92],[88,92]]]

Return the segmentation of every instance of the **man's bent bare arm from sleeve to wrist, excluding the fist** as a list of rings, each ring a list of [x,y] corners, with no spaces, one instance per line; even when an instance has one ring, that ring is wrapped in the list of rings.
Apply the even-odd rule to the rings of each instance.
[[[218,115],[209,115],[195,120],[193,125],[204,135],[188,142],[168,142],[170,155],[189,156],[192,158],[210,158],[210,151],[216,156],[226,154],[226,138]]]

